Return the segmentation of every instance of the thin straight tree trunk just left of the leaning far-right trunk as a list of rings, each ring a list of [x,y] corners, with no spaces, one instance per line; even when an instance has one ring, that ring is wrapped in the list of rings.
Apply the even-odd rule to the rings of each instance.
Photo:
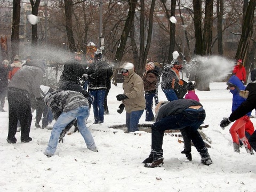
[[[222,47],[222,18],[223,18],[223,10],[224,10],[223,0],[217,1],[217,30],[218,30],[218,52],[219,55],[223,55],[223,47]]]

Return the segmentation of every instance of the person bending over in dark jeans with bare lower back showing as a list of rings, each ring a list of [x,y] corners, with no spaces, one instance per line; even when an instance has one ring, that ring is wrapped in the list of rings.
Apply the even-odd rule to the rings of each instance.
[[[162,106],[161,106],[162,105]],[[159,106],[159,110],[157,107]],[[179,99],[158,103],[156,107],[156,122],[151,126],[152,141],[151,153],[143,163],[145,167],[158,167],[163,164],[163,138],[165,130],[182,130],[186,140],[193,141],[201,155],[201,162],[205,165],[212,164],[205,143],[197,129],[204,122],[205,110],[201,103],[190,99]],[[190,153],[190,151],[187,151]],[[188,155],[186,154],[186,156]],[[188,157],[188,156],[187,156]]]

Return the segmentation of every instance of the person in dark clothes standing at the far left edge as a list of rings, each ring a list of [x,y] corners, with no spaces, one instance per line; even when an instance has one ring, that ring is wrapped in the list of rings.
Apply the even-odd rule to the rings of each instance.
[[[2,64],[0,64],[0,111],[6,112],[4,110],[5,97],[7,93],[7,85],[8,85],[8,74],[9,71],[12,70],[12,67],[9,65],[7,60],[3,60]]]

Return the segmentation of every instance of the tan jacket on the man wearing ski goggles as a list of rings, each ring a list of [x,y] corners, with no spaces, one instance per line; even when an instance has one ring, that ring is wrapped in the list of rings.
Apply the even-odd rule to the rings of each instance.
[[[134,69],[128,69],[129,75],[124,76],[123,90],[124,94],[129,98],[122,102],[125,105],[125,111],[131,113],[132,111],[144,110],[146,101],[144,97],[144,85],[142,78],[135,74]]]

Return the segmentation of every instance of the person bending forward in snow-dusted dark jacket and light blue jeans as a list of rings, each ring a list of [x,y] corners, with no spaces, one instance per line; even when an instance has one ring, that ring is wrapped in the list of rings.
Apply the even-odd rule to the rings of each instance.
[[[50,107],[54,119],[51,137],[44,155],[51,157],[54,155],[60,133],[65,127],[77,119],[77,125],[82,134],[88,149],[98,152],[90,130],[86,127],[86,119],[89,117],[89,102],[82,93],[76,91],[57,90],[45,96],[44,102]]]

